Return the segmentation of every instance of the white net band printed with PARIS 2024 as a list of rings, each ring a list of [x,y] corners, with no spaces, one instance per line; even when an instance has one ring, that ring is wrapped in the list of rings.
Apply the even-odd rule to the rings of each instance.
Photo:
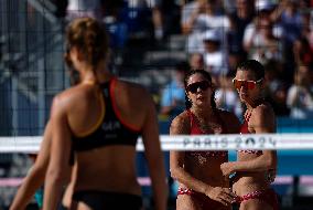
[[[313,134],[161,135],[162,150],[313,149]],[[42,136],[0,137],[0,153],[35,154]],[[139,138],[137,150],[144,149]]]

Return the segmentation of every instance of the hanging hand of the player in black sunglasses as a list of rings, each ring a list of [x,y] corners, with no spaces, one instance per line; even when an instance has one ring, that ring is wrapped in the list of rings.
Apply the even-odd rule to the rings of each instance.
[[[215,187],[205,192],[212,200],[216,200],[225,206],[236,201],[236,195],[229,188]]]

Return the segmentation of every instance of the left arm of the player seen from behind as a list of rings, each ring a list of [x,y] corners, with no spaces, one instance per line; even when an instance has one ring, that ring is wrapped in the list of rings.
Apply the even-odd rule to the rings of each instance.
[[[66,99],[56,96],[53,99],[51,123],[53,139],[51,157],[45,176],[44,210],[55,210],[61,199],[71,154],[71,130],[67,122]]]

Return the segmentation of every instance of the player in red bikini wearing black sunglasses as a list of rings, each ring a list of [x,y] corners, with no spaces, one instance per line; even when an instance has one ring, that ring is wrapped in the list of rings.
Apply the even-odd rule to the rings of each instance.
[[[171,135],[238,133],[237,117],[216,108],[208,72],[192,70],[184,84],[186,111],[173,119]],[[171,151],[171,176],[179,181],[176,209],[230,210],[235,197],[219,168],[227,159],[227,151]]]

